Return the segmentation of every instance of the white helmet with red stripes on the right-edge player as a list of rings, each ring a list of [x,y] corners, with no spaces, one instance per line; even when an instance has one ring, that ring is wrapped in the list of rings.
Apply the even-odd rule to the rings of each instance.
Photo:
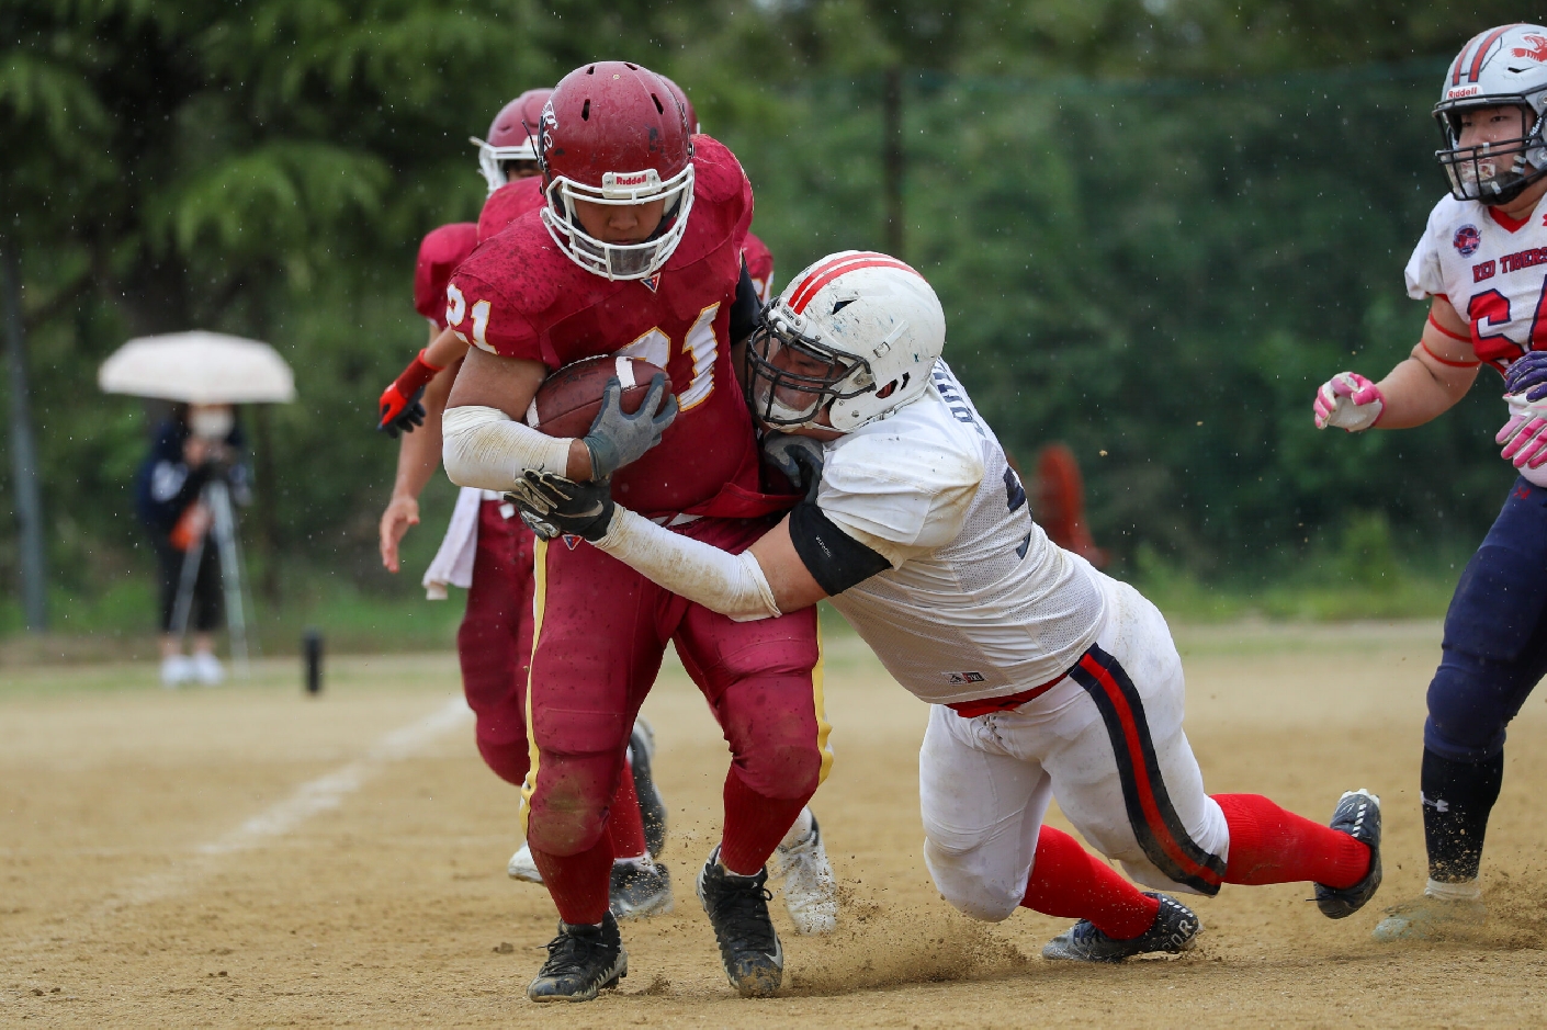
[[[1521,135],[1462,147],[1462,114],[1479,107],[1521,110]],[[1434,119],[1445,148],[1434,152],[1456,200],[1507,204],[1547,175],[1542,114],[1547,108],[1547,28],[1501,25],[1462,46],[1450,71]]]

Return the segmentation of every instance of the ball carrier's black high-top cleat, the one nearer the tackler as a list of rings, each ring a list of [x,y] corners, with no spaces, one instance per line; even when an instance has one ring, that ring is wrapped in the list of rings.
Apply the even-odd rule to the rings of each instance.
[[[743,998],[772,998],[784,982],[784,950],[769,919],[769,872],[738,877],[719,865],[719,848],[698,874],[698,900],[719,942],[719,962]]]

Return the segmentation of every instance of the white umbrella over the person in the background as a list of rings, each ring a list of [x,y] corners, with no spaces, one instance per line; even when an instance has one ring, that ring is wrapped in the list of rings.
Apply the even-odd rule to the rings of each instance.
[[[104,393],[187,404],[295,399],[295,379],[272,346],[203,329],[130,340],[102,362],[97,385]]]

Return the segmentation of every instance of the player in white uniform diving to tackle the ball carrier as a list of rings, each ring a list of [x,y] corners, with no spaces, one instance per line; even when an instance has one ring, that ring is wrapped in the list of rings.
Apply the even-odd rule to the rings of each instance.
[[[1196,916],[1142,894],[1043,826],[1049,801],[1160,889],[1312,880],[1340,919],[1380,885],[1380,803],[1344,793],[1332,826],[1259,795],[1204,793],[1182,732],[1182,665],[1160,612],[1054,546],[950,368],[924,278],[882,254],[803,271],[749,345],[749,401],[821,441],[806,500],[730,555],[611,504],[605,486],[529,473],[538,532],[568,532],[733,619],[831,597],[888,671],[934,707],[919,761],[924,855],[968,916],[1078,917],[1050,959],[1193,945]]]

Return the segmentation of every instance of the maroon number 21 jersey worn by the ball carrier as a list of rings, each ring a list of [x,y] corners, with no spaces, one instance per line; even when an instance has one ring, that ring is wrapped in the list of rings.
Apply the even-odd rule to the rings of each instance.
[[[760,503],[758,448],[730,365],[730,306],[752,223],[752,186],[724,144],[695,136],[693,209],[653,280],[610,281],[560,251],[538,212],[478,247],[447,288],[458,336],[549,370],[630,354],[671,376],[681,413],[661,444],[613,476],[613,496],[651,513],[750,518]]]

